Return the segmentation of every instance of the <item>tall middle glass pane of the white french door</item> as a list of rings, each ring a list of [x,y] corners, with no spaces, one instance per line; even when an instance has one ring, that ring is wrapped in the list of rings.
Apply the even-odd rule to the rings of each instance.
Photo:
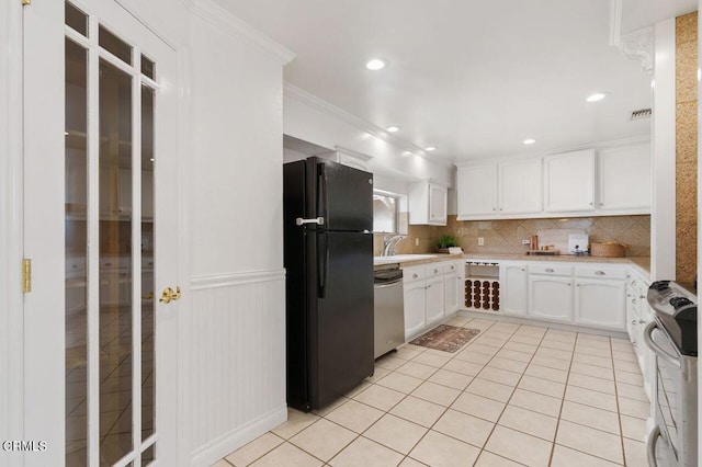
[[[133,449],[132,79],[100,60],[101,465]]]

